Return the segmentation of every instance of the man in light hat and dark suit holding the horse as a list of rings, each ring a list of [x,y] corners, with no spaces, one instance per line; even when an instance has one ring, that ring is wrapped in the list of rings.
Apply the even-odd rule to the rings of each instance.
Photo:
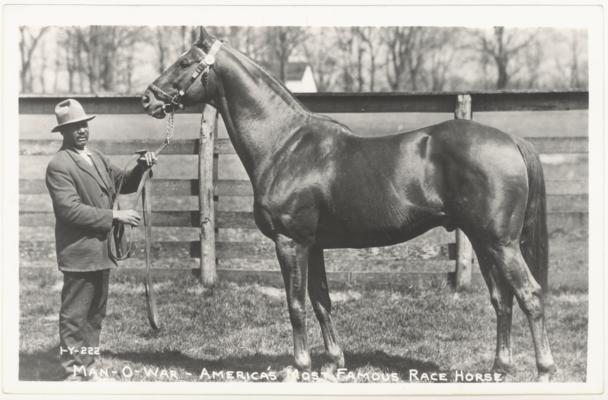
[[[99,355],[99,335],[106,314],[110,269],[108,240],[112,223],[137,226],[135,210],[113,210],[116,188],[121,193],[137,190],[146,166],[156,163],[152,152],[135,167],[123,172],[100,152],[89,149],[87,115],[80,103],[67,99],[55,107],[63,145],[46,170],[46,185],[55,212],[57,263],[63,272],[59,312],[60,358],[65,379],[86,380],[78,374],[92,366]]]

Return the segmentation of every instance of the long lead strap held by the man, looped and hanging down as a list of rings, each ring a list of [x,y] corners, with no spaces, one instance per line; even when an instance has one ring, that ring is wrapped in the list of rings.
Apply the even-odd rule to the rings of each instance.
[[[173,135],[175,134],[175,121],[174,121],[174,113],[171,112],[168,114],[167,125],[165,129],[165,141],[156,149],[154,152],[155,155],[158,156],[160,152],[169,144]],[[137,156],[135,159],[139,159],[143,154],[145,154],[147,150],[138,150]],[[116,198],[114,199],[114,204],[112,205],[112,209],[118,209],[118,196],[120,191],[122,190],[122,186],[124,183],[124,178],[127,172],[127,167],[131,163],[132,160],[129,160],[123,169],[123,174],[118,185],[118,190],[116,192]],[[152,285],[152,276],[151,276],[151,248],[152,248],[152,207],[150,204],[150,184],[148,180],[152,177],[152,167],[146,167],[144,172],[142,173],[141,179],[139,181],[139,185],[137,186],[137,191],[135,195],[135,204],[139,202],[139,198],[142,199],[142,211],[143,211],[143,219],[144,219],[144,237],[145,237],[145,258],[146,258],[146,279],[144,281],[144,289],[146,294],[146,311],[148,314],[148,321],[150,322],[150,326],[154,330],[160,329],[160,318],[158,316],[158,308],[156,306],[156,297],[154,295],[154,289]],[[133,227],[131,226],[128,230],[125,230],[124,224],[114,223],[112,225],[112,231],[110,232],[109,238],[109,254],[110,257],[116,261],[121,261],[129,258],[131,253],[133,252],[133,242],[131,240],[131,231]],[[120,243],[122,239],[122,235],[128,232],[126,235],[126,251],[121,252],[120,246],[116,243]],[[114,248],[113,246],[114,245]]]

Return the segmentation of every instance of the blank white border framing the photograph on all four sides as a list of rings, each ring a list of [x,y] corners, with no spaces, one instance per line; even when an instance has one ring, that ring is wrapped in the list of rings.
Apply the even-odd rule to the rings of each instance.
[[[604,383],[604,340],[607,287],[603,249],[606,143],[605,32],[606,10],[600,3],[570,5],[427,5],[304,6],[294,3],[261,6],[192,5],[3,5],[3,131],[2,140],[2,369],[5,393],[138,393],[138,394],[335,394],[335,395],[448,395],[448,394],[591,394]],[[96,4],[99,4],[97,2]],[[159,4],[160,2],[147,2]],[[192,2],[181,2],[191,4]],[[351,4],[353,2],[350,2]],[[486,2],[487,3],[487,2]],[[107,3],[106,3],[107,4]],[[116,4],[116,3],[114,3]],[[135,4],[135,3],[131,3]],[[141,4],[141,3],[140,3]],[[207,3],[209,4],[209,3]],[[241,3],[242,4],[242,3]],[[430,5],[432,4],[432,5]],[[521,2],[519,4],[522,4]],[[525,4],[525,2],[523,2]],[[542,4],[542,3],[540,3]],[[545,3],[548,4],[548,3]],[[556,5],[558,4],[558,5]],[[19,382],[18,363],[18,54],[19,25],[435,25],[435,26],[552,26],[586,28],[589,32],[590,104],[590,232],[589,347],[587,383],[533,384],[251,384],[251,383],[87,383]],[[604,207],[603,207],[604,206]],[[604,277],[604,279],[599,279]]]

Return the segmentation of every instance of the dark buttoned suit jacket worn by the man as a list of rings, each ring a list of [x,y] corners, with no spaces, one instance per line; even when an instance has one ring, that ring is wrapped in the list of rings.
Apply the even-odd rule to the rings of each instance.
[[[46,169],[46,186],[55,211],[55,245],[61,271],[113,268],[108,255],[112,203],[123,176],[100,152],[88,149],[94,166],[75,150],[60,149]],[[121,193],[137,190],[144,168],[127,172]]]

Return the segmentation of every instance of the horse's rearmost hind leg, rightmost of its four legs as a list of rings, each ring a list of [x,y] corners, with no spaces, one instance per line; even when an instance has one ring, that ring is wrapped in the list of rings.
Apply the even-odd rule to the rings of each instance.
[[[519,307],[528,318],[536,351],[538,380],[548,381],[556,368],[545,327],[542,289],[524,261],[518,241],[496,245],[489,253],[502,277],[511,286]]]

